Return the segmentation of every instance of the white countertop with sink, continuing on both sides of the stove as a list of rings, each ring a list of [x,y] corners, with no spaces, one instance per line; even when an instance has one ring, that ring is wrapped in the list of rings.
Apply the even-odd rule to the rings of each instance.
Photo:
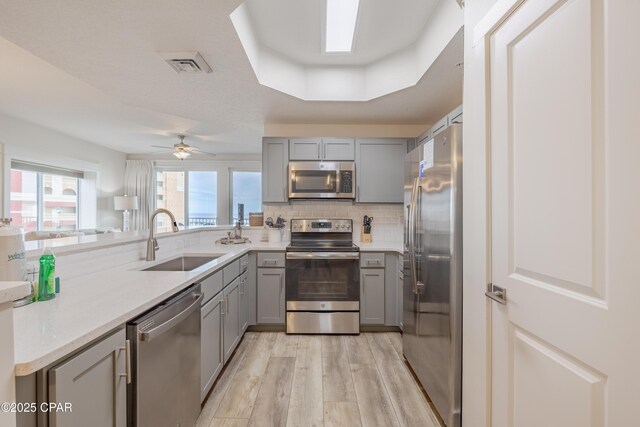
[[[244,253],[283,251],[288,243],[201,244],[186,253],[225,255],[192,271],[139,271],[164,260],[138,261],[108,272],[64,280],[55,299],[13,310],[16,375],[29,375],[80,349]],[[358,246],[362,251],[402,253],[402,244],[396,243]]]

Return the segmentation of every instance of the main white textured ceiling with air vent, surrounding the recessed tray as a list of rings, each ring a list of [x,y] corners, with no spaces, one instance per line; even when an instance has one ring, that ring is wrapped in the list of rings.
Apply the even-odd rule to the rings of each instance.
[[[0,0],[0,112],[128,153],[182,132],[207,151],[257,153],[264,123],[430,124],[461,102],[461,32],[416,86],[373,101],[261,86],[229,19],[239,4]],[[157,55],[185,50],[213,72],[177,75]]]

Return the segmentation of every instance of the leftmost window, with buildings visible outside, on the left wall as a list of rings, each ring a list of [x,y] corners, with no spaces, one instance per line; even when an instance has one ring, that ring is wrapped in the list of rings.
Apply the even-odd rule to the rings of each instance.
[[[11,162],[9,210],[13,224],[25,231],[78,228],[81,172]]]

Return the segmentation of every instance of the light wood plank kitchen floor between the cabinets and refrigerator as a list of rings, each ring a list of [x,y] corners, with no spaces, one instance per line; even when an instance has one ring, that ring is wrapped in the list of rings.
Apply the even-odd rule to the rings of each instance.
[[[438,427],[398,333],[247,332],[197,427]]]

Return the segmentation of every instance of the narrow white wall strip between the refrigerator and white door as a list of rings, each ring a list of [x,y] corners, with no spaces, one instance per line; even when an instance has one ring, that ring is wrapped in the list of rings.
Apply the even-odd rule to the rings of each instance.
[[[497,0],[467,1],[464,9],[464,201],[462,424],[490,426],[490,303],[484,296],[490,281],[490,227],[482,43],[473,46],[473,29]]]

